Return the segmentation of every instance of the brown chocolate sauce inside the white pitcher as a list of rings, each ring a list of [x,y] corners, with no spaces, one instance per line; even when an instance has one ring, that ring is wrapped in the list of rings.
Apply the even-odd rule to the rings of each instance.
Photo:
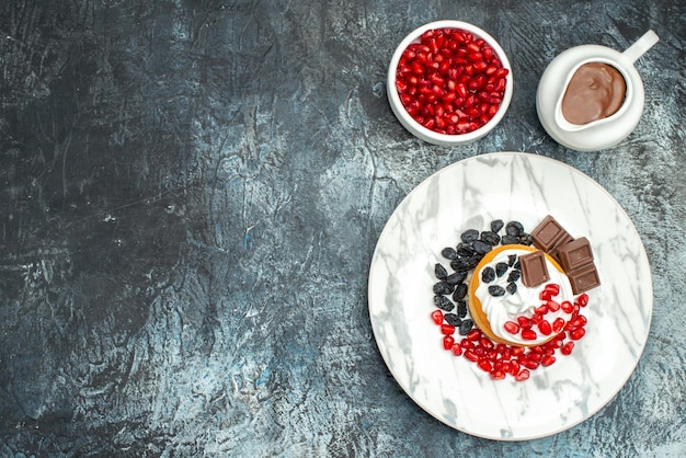
[[[588,124],[617,113],[627,84],[613,66],[584,64],[574,72],[562,98],[562,115],[572,124]]]

